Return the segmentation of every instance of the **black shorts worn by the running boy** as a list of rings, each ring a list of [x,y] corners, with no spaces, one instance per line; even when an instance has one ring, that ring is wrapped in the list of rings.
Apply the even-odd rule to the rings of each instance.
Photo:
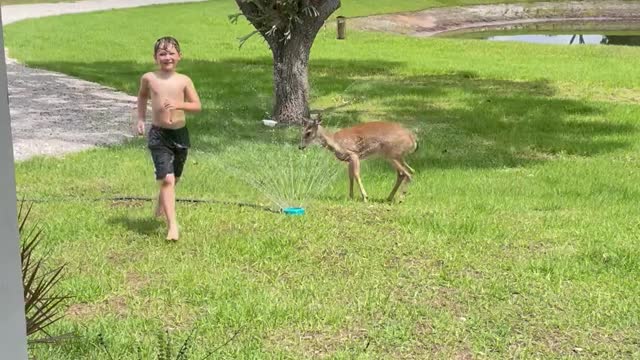
[[[152,125],[149,129],[149,150],[156,169],[156,180],[168,174],[176,178],[182,175],[191,143],[187,127],[166,129]]]

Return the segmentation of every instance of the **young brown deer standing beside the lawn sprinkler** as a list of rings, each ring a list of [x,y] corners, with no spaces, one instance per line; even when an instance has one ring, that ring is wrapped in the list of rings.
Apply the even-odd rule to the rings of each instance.
[[[353,180],[358,183],[362,199],[367,201],[367,193],[360,180],[360,160],[378,155],[391,163],[398,173],[396,184],[389,194],[392,201],[400,185],[411,181],[414,170],[404,161],[404,156],[418,148],[416,136],[399,124],[390,122],[369,122],[331,133],[321,125],[321,119],[308,120],[302,129],[299,148],[311,143],[319,143],[332,151],[340,161],[349,163],[349,196],[353,198]]]

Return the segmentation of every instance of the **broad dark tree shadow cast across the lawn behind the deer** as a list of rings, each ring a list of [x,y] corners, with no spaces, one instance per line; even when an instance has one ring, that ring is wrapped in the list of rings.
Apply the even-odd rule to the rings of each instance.
[[[135,62],[30,65],[129,94],[137,92],[140,75],[152,69]],[[381,119],[406,124],[419,138],[420,149],[409,158],[416,169],[512,167],[557,154],[594,156],[630,146],[629,135],[637,131],[604,119],[606,111],[595,103],[555,97],[546,81],[483,79],[468,71],[399,76],[395,69],[402,66],[391,61],[312,61],[312,97],[350,102],[329,106],[325,123],[343,127]],[[270,58],[183,60],[180,70],[194,80],[203,101],[203,112],[189,125],[195,148],[216,152],[236,142],[273,142],[272,132],[260,123],[272,104]]]

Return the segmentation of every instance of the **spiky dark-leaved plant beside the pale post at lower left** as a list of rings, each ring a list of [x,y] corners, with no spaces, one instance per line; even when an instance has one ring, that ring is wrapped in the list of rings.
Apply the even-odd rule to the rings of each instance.
[[[42,239],[42,228],[29,226],[27,219],[33,205],[25,210],[25,202],[20,203],[18,211],[21,243],[22,284],[24,288],[24,311],[27,323],[27,336],[44,334],[44,337],[30,339],[31,342],[52,342],[53,337],[46,328],[60,320],[64,315],[65,300],[69,296],[61,295],[56,285],[62,279],[64,265],[47,269],[46,257],[38,256],[35,250]]]

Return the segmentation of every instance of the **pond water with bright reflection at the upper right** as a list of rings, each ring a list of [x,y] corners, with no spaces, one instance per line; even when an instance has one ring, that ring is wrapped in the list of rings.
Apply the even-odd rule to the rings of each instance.
[[[640,46],[640,22],[545,22],[449,31],[439,37],[559,45]]]

